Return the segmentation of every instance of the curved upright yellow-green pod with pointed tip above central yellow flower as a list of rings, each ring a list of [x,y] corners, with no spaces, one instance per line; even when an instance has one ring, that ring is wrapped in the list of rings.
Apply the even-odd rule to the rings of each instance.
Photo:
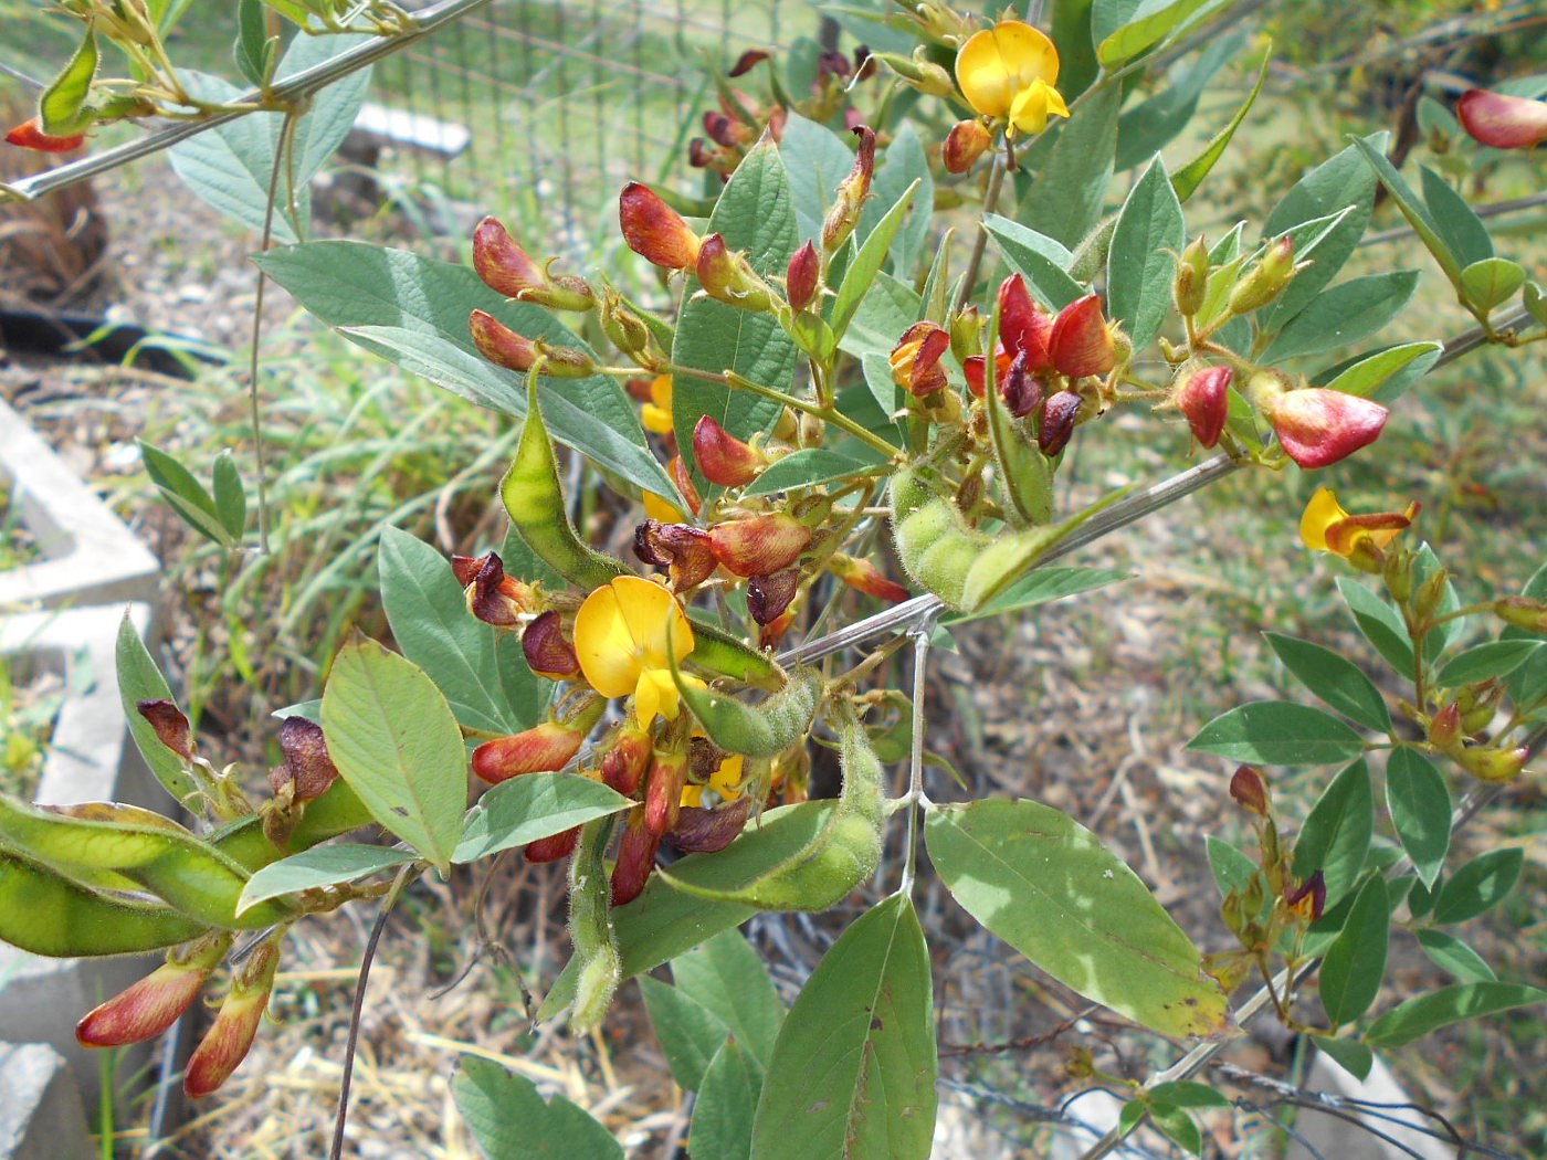
[[[521,540],[543,563],[580,588],[600,588],[628,574],[619,560],[582,543],[558,487],[558,462],[537,401],[537,376],[528,377],[526,425],[511,470],[500,481],[500,498]]]

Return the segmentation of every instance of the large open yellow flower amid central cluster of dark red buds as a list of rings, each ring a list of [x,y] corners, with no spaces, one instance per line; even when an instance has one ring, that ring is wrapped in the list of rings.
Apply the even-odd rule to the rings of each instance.
[[[637,575],[620,575],[585,599],[575,612],[580,671],[605,698],[634,698],[634,718],[648,725],[656,715],[676,719],[678,688],[668,656],[681,662],[693,651],[693,626],[665,588]],[[698,677],[684,681],[702,684]]]

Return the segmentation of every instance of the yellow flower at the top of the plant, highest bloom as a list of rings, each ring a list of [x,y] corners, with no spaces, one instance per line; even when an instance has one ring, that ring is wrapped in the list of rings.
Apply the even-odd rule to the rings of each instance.
[[[1006,20],[973,34],[956,54],[956,84],[967,104],[989,118],[1002,118],[1018,133],[1041,133],[1047,118],[1069,116],[1054,88],[1058,49],[1043,32]]]

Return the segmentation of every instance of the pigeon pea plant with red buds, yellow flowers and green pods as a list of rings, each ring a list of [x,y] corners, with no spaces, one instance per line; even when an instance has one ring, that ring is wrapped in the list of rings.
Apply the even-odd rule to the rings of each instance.
[[[1041,970],[1194,1042],[1148,1081],[1086,1067],[1129,1097],[1091,1155],[1145,1120],[1200,1151],[1194,1111],[1228,1100],[1191,1076],[1262,1010],[1358,1072],[1375,1050],[1547,998],[1496,979],[1451,933],[1510,892],[1521,852],[1448,861],[1454,827],[1527,776],[1541,745],[1547,569],[1519,594],[1463,605],[1434,552],[1411,543],[1417,501],[1351,515],[1323,489],[1301,524],[1309,548],[1375,580],[1340,589],[1402,694],[1355,659],[1270,634],[1326,708],[1244,705],[1191,742],[1242,763],[1228,798],[1255,843],[1208,846],[1236,950],[1200,953],[1060,810],[945,804],[925,784],[941,625],[1111,583],[1111,571],[1049,565],[1235,470],[1335,464],[1375,444],[1388,408],[1434,367],[1547,333],[1524,266],[1493,252],[1442,178],[1425,170],[1414,190],[1381,133],[1306,173],[1259,227],[1191,234],[1183,204],[1267,70],[1264,57],[1235,118],[1173,172],[1159,148],[1182,125],[1160,116],[1166,94],[1125,111],[1125,80],[1190,43],[1199,19],[1228,28],[1228,6],[1196,9],[1055,5],[1049,37],[925,0],[885,15],[893,39],[916,40],[911,54],[862,53],[842,68],[829,57],[811,101],[789,97],[803,63],[743,59],[733,73],[761,70],[769,94],[721,79],[722,111],[705,118],[715,147],[690,150],[716,192],[620,192],[622,240],[659,271],[650,295],[619,289],[637,275],[623,266],[555,272],[493,218],[475,230],[472,269],[351,241],[260,254],[265,277],[365,350],[521,421],[500,484],[509,534],[447,561],[384,531],[381,589],[401,653],[365,639],[339,651],[320,701],[282,713],[285,761],[263,801],[203,755],[125,628],[135,738],[201,824],[128,806],[0,804],[0,937],[42,954],[167,948],[164,967],[82,1019],[80,1039],[159,1033],[231,962],[186,1073],[189,1092],[210,1092],[252,1041],[291,925],[390,905],[418,874],[515,848],[568,863],[574,957],[537,1018],[568,1010],[577,1030],[596,1027],[639,977],[673,1075],[698,1092],[699,1157],[930,1154],[920,846],[962,908]],[[866,80],[874,107],[843,107],[835,76]],[[1505,147],[1542,136],[1530,99],[1470,94],[1460,119]],[[1137,176],[1109,207],[1126,170]],[[1474,331],[1381,343],[1419,272],[1335,281],[1378,186]],[[1521,306],[1504,311],[1516,294]],[[1216,455],[1145,489],[1071,489],[1074,450],[1132,438],[1112,416],[1135,410],[1166,421],[1179,459]],[[616,493],[610,512],[636,510],[631,534],[614,537],[633,560],[577,527],[555,444]],[[206,535],[243,535],[229,462],[213,495],[167,456],[155,466]],[[866,602],[890,608],[851,616]],[[883,677],[902,648],[913,677],[894,688]],[[832,800],[808,800],[817,749],[837,753]],[[900,797],[888,795],[888,761],[907,767]],[[1341,770],[1290,834],[1261,767],[1324,764]],[[469,769],[489,787],[472,810]],[[328,841],[370,824],[396,844]],[[733,930],[758,911],[849,899],[877,877],[894,829],[903,858],[877,883],[885,900],[786,1013]],[[1459,982],[1372,1016],[1394,930]],[[648,974],[667,962],[674,987]],[[1248,976],[1259,990],[1233,1007]],[[469,1061],[458,1098],[490,1155],[566,1132],[591,1155],[622,1155],[600,1126],[492,1064]]]

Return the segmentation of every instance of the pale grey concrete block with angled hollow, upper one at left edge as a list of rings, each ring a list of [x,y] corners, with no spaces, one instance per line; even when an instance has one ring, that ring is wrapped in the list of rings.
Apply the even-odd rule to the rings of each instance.
[[[5,402],[0,475],[43,555],[0,572],[0,609],[155,600],[161,565],[152,551]]]

